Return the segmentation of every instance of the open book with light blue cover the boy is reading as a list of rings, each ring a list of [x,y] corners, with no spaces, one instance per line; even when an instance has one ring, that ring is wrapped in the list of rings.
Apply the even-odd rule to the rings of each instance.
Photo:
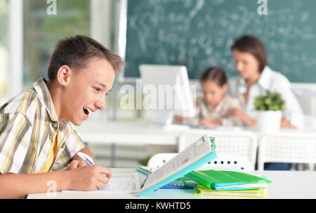
[[[214,138],[203,135],[162,167],[148,174],[143,183],[140,183],[137,173],[113,174],[105,188],[95,192],[138,193],[141,197],[217,158],[215,149]]]

